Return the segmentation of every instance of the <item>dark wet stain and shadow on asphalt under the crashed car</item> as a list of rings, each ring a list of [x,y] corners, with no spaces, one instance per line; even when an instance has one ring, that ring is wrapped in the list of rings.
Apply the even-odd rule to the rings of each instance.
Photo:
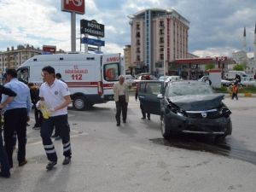
[[[184,148],[189,150],[204,151],[212,154],[219,154],[236,160],[243,160],[256,165],[256,152],[247,150],[242,143],[233,137],[215,139],[214,137],[197,135],[178,135],[169,140],[164,138],[150,139],[152,143]]]

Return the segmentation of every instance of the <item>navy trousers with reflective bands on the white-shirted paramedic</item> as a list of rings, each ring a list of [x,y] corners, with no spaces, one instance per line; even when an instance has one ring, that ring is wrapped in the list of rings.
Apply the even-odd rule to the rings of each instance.
[[[57,154],[55,146],[51,141],[52,131],[54,129],[58,131],[61,136],[63,144],[63,155],[71,157],[71,144],[70,144],[70,128],[67,122],[67,114],[50,117],[49,119],[43,119],[41,125],[41,137],[44,144],[44,150],[47,158],[50,161],[57,161]]]

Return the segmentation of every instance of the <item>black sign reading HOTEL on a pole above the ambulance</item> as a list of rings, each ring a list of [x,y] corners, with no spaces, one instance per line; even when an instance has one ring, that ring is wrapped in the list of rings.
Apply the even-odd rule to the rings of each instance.
[[[80,32],[101,38],[105,36],[104,25],[97,23],[96,20],[80,20]]]

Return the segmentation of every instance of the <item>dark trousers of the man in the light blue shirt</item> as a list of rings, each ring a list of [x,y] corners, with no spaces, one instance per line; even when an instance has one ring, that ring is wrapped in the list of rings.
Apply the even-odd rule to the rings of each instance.
[[[14,132],[18,137],[18,161],[22,163],[26,157],[26,108],[10,109],[4,113],[3,136],[9,165],[13,166]]]

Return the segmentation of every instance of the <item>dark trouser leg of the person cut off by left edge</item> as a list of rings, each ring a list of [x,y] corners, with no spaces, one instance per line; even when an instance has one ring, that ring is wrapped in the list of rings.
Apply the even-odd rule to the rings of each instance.
[[[9,175],[9,160],[3,147],[2,127],[0,127],[0,164],[3,175]]]

